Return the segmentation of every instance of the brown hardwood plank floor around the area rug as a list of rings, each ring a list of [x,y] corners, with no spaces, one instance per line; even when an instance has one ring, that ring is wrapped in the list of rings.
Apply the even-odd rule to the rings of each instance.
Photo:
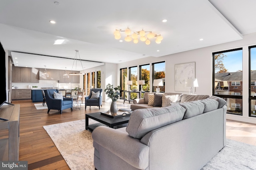
[[[107,111],[109,103],[103,103],[100,110],[96,106],[84,104],[80,110],[65,109],[62,114],[58,110],[37,110],[31,100],[13,100],[20,104],[20,155],[19,160],[28,161],[28,170],[69,170],[65,160],[55,147],[44,125],[85,119],[86,113]],[[128,103],[118,102],[118,107],[130,108]],[[227,139],[256,145],[256,124],[227,120]]]

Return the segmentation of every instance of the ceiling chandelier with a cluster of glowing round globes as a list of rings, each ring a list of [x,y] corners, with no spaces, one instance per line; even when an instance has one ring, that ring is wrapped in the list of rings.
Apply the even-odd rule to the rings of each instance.
[[[116,31],[114,31],[114,35],[115,35],[115,39],[120,39],[121,38],[121,33],[120,32],[124,32],[126,34],[126,37],[124,38],[124,41],[132,41],[135,44],[137,44],[139,42],[139,36],[140,36],[140,41],[145,41],[146,45],[150,44],[150,39],[156,37],[156,43],[160,44],[162,39],[164,38],[161,34],[154,34],[152,33],[152,31],[144,31],[143,29],[141,31],[132,31],[130,30],[129,27],[127,27],[125,29],[125,31],[123,31],[122,29],[116,29]],[[147,33],[147,34],[146,34]]]

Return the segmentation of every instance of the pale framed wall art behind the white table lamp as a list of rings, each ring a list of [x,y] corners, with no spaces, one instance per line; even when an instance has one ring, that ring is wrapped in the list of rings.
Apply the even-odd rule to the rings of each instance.
[[[196,63],[184,63],[184,64],[176,64],[174,66],[174,90],[188,92],[189,88],[185,87],[186,79],[195,78],[196,76]]]

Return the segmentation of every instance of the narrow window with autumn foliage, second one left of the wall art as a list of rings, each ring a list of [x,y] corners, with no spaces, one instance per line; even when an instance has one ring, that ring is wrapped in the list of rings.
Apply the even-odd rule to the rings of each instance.
[[[145,84],[142,85],[142,90],[149,92],[150,91],[150,64],[140,65],[140,80],[145,80]],[[141,87],[139,87],[141,90]],[[143,94],[142,94],[143,95]],[[142,96],[143,97],[143,96]]]

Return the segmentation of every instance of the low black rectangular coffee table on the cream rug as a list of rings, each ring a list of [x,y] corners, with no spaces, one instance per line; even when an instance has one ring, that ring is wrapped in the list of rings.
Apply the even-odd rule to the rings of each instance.
[[[89,118],[98,121],[99,123],[94,123],[89,125]],[[127,123],[130,119],[130,115],[122,116],[122,117],[108,117],[106,115],[100,114],[100,112],[97,113],[88,113],[85,115],[85,129],[93,131],[98,126],[105,125],[114,129],[120,128],[120,127],[126,127]]]

